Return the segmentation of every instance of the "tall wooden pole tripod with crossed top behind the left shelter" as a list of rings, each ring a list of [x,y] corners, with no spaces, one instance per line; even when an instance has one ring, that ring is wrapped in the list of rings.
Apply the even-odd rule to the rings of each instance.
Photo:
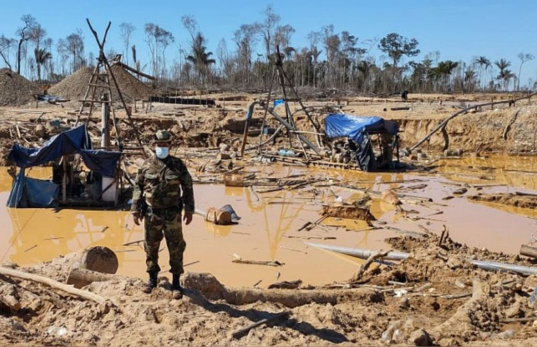
[[[107,29],[104,31],[104,37],[102,38],[102,41],[99,40],[99,36],[97,35],[97,32],[93,29],[93,27],[92,27],[92,25],[90,23],[90,20],[88,18],[86,18],[86,22],[88,22],[90,30],[91,30],[93,36],[95,37],[95,40],[97,41],[97,45],[99,46],[99,58],[97,59],[97,65],[95,66],[95,69],[93,70],[93,73],[92,73],[92,75],[90,77],[90,81],[88,82],[88,89],[85,92],[84,99],[80,100],[80,102],[82,102],[82,104],[80,105],[80,111],[78,111],[78,117],[80,118],[80,115],[83,114],[85,104],[89,103],[90,104],[90,110],[88,112],[88,118],[85,121],[85,123],[88,124],[88,122],[90,121],[90,118],[92,116],[92,112],[93,112],[93,109],[94,109],[94,104],[95,103],[102,103],[102,104],[108,103],[110,105],[110,109],[111,109],[112,122],[114,124],[114,130],[116,132],[116,139],[117,139],[117,142],[118,142],[118,147],[119,147],[120,151],[123,150],[123,145],[121,143],[121,138],[119,136],[119,128],[117,126],[116,112],[114,110],[114,99],[113,99],[112,93],[111,93],[112,86],[111,86],[110,82],[112,82],[114,84],[114,88],[115,88],[115,90],[117,92],[117,95],[119,95],[119,99],[121,101],[123,109],[125,109],[125,111],[126,111],[128,121],[129,121],[129,123],[131,125],[131,128],[134,131],[134,134],[135,134],[136,140],[138,142],[138,145],[140,147],[143,147],[142,141],[140,140],[140,133],[138,133],[138,129],[136,128],[136,126],[134,124],[134,121],[133,121],[133,118],[132,118],[131,109],[129,109],[127,107],[125,99],[123,98],[123,94],[121,93],[121,90],[120,90],[119,85],[117,83],[116,76],[114,76],[114,72],[110,68],[110,64],[108,62],[107,56],[104,55],[104,44],[107,41],[107,35],[108,35],[108,31],[110,29],[111,22],[108,22],[108,26],[107,26]],[[110,81],[110,79],[111,79],[111,81]],[[95,97],[97,95],[97,90],[104,90],[105,91],[104,92],[105,96],[102,97],[99,100],[95,99]],[[88,97],[90,97],[90,96],[91,96],[91,98],[88,99]],[[77,123],[78,123],[78,121],[77,121]],[[103,124],[103,127],[105,127],[105,126],[107,126],[107,125]]]

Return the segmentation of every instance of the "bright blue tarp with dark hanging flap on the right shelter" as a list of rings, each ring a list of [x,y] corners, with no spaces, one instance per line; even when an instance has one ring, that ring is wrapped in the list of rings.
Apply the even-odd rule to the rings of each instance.
[[[378,169],[370,135],[394,135],[397,141],[398,130],[397,123],[375,116],[330,114],[325,118],[327,138],[348,138],[349,142],[352,142],[351,149],[354,151],[356,162],[363,171]]]

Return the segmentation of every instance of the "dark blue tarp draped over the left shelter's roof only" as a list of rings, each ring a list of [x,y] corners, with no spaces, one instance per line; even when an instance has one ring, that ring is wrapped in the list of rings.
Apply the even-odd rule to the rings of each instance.
[[[121,157],[120,152],[91,150],[91,144],[86,138],[85,126],[82,125],[53,136],[44,142],[41,148],[14,145],[9,152],[9,159],[21,168],[28,168],[47,164],[59,159],[62,155],[73,153],[80,153],[91,171],[108,177],[114,177],[117,161]]]

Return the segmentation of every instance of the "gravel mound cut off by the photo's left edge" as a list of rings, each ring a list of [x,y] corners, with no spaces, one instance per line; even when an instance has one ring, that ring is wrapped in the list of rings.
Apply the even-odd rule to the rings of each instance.
[[[0,69],[0,106],[14,106],[30,102],[39,87],[8,68]]]

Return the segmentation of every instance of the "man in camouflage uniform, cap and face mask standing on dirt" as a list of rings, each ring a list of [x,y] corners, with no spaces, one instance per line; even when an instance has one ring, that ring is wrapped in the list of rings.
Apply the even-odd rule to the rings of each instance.
[[[192,178],[183,161],[169,155],[171,135],[166,130],[157,131],[153,144],[155,155],[147,159],[138,171],[131,207],[134,223],[140,225],[140,221],[144,220],[145,263],[149,273],[144,291],[151,293],[157,286],[160,241],[166,238],[173,276],[173,296],[180,299],[183,297],[183,289],[179,284],[179,276],[183,273],[183,252],[186,248],[181,211],[185,211],[185,224],[190,224],[194,212]]]

